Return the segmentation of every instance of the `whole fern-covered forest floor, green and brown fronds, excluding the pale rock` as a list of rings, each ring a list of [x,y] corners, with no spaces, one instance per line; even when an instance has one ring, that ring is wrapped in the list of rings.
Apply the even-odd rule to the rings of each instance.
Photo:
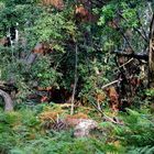
[[[114,113],[107,119],[90,107],[78,107],[69,114],[67,106],[21,105],[15,111],[0,111],[1,154],[153,154],[154,107],[142,106]],[[79,119],[97,127],[87,136],[75,136]]]

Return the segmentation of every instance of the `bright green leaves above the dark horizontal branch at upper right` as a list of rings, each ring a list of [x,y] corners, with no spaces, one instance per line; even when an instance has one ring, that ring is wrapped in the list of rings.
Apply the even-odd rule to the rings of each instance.
[[[103,44],[108,44],[110,40],[113,48],[118,48],[123,45],[122,33],[124,34],[127,30],[141,29],[141,24],[146,29],[144,23],[147,19],[142,18],[143,14],[145,15],[143,10],[146,9],[146,3],[144,1],[111,1],[103,6],[102,9],[99,10],[100,19],[98,21],[98,25],[101,26],[102,30],[101,34],[103,35]],[[141,13],[143,14],[140,16]],[[141,40],[136,42],[136,37],[139,38],[140,36],[134,33],[129,41],[133,46],[135,46],[134,51],[141,51],[141,46],[144,44],[144,41]],[[141,42],[142,44],[138,45]]]

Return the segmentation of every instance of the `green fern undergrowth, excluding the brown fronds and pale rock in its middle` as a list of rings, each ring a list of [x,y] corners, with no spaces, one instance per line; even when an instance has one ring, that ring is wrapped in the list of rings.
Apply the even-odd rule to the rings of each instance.
[[[75,139],[73,129],[56,132],[42,127],[40,117],[58,112],[65,118],[67,110],[38,105],[13,112],[0,111],[1,154],[153,154],[154,119],[150,110],[130,110],[119,113],[122,125],[99,120],[98,133]],[[53,113],[53,114],[54,114]],[[53,116],[52,114],[52,116]],[[89,113],[89,116],[91,116]],[[94,113],[96,117],[97,113]],[[92,118],[92,117],[91,117]],[[95,118],[96,119],[96,118]]]

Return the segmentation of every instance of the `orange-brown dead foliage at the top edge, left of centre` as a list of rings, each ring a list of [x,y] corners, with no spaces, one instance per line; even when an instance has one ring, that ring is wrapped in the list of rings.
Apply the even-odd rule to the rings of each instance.
[[[64,9],[64,1],[63,0],[42,0],[44,6],[53,6],[58,10]]]

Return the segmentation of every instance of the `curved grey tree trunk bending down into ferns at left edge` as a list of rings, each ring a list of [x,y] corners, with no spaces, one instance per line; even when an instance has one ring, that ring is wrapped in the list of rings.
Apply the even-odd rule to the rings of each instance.
[[[13,110],[13,101],[11,97],[3,90],[0,89],[0,97],[4,100],[4,111],[12,111]]]

